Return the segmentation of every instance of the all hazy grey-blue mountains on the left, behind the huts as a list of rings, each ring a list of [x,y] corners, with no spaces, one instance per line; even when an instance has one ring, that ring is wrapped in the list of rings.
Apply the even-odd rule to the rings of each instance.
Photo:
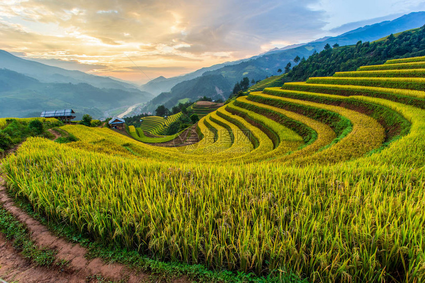
[[[127,82],[48,66],[0,50],[0,117],[34,117],[43,110],[72,108],[77,119],[85,113],[105,118],[112,109],[153,97]]]

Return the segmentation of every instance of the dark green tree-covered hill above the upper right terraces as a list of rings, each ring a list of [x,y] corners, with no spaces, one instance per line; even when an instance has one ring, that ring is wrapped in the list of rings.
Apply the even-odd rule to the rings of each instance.
[[[337,71],[356,71],[360,66],[383,64],[388,59],[425,55],[425,26],[373,42],[356,45],[327,45],[320,53],[302,59],[285,81],[305,81],[314,76],[331,76]]]

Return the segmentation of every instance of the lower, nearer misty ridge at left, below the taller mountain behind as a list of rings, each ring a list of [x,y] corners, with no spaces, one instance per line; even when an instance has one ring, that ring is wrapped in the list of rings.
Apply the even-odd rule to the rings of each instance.
[[[0,117],[37,117],[43,110],[72,108],[77,119],[93,118],[122,106],[147,101],[149,93],[133,89],[98,88],[87,83],[45,83],[0,69]]]

